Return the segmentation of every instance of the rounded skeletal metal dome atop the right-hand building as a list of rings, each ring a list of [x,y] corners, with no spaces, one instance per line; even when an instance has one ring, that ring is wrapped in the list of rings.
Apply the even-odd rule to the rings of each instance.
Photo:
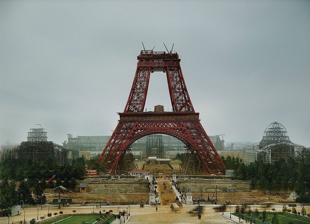
[[[273,122],[264,131],[263,142],[285,142],[290,141],[290,138],[287,136],[286,128],[279,122]]]

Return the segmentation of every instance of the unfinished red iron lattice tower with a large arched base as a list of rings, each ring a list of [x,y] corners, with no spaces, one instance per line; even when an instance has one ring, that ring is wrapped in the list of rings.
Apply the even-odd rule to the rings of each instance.
[[[143,112],[150,74],[165,72],[172,112]],[[167,134],[178,138],[188,151],[200,159],[201,173],[218,173],[225,166],[203,129],[199,113],[194,111],[184,82],[177,53],[142,50],[124,112],[105,146],[101,160],[110,174],[116,174],[126,151],[137,139],[149,134]]]

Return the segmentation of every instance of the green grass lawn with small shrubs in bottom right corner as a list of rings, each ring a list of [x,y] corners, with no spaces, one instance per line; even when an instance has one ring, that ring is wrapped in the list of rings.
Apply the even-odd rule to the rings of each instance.
[[[237,213],[232,213],[236,216],[240,216],[239,214]],[[303,217],[299,217],[299,216],[295,216],[295,215],[292,215],[292,214],[289,214],[289,213],[276,213],[278,218],[279,218],[279,223],[280,224],[288,224],[289,222],[292,222],[294,224],[307,224],[307,223],[310,223],[310,219],[309,218],[303,218]],[[259,215],[261,216],[262,213],[260,212]],[[271,223],[272,221],[272,216],[273,216],[273,212],[268,212],[267,213],[267,222]],[[241,217],[241,216],[240,216]],[[244,217],[244,219],[250,221],[250,218],[247,218],[247,217]],[[254,223],[256,224],[263,224],[263,222],[259,222],[257,220],[253,220]]]

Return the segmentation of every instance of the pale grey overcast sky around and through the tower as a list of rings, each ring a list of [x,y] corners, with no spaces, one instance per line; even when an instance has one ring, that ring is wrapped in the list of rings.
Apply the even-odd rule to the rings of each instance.
[[[136,56],[174,43],[207,134],[259,142],[273,121],[310,145],[309,1],[1,1],[1,143],[34,124],[111,135]],[[146,108],[171,108],[151,74]]]

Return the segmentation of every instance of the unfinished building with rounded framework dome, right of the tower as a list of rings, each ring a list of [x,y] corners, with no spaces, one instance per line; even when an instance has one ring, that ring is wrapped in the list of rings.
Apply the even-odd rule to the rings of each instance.
[[[309,152],[309,148],[290,141],[282,124],[273,122],[265,129],[262,141],[244,150],[243,160],[251,163],[261,159],[265,163],[274,163],[279,159],[293,158],[296,162],[308,162]]]

